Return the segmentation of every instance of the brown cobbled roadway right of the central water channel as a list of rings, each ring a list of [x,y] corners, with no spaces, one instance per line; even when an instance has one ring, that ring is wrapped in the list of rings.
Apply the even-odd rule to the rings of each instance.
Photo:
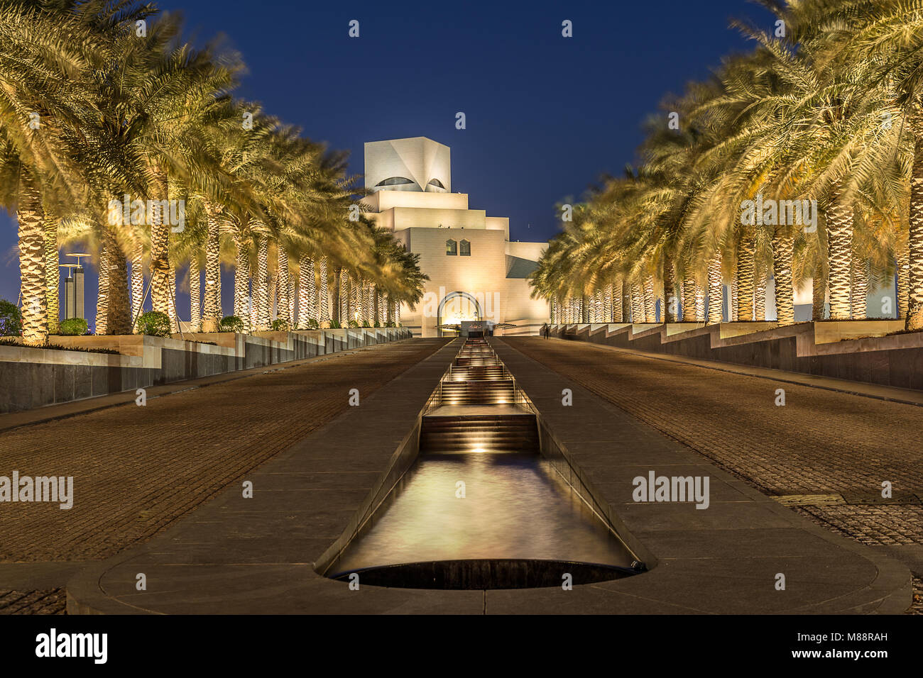
[[[909,404],[917,394],[884,387],[864,394],[867,385],[850,393],[851,383],[806,375],[785,383],[793,375],[578,341],[508,341],[765,494],[838,534],[888,548],[923,575],[923,407]],[[779,388],[785,406],[775,404]],[[881,497],[883,481],[893,483],[890,500]]]

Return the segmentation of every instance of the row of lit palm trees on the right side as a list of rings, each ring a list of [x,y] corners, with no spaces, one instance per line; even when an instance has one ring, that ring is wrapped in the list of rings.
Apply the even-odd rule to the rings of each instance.
[[[764,320],[772,279],[780,325],[812,280],[815,320],[923,328],[923,1],[761,2],[773,28],[734,22],[754,49],[667,97],[549,245],[556,322],[721,322],[725,285],[729,319]]]

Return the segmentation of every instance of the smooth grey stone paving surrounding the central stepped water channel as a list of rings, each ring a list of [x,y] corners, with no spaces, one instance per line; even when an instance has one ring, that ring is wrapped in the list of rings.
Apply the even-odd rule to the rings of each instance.
[[[419,413],[450,344],[154,539],[67,585],[68,610],[101,613],[896,613],[903,565],[836,537],[503,342],[497,352],[572,451],[651,572],[572,590],[387,589],[318,575],[415,454]],[[501,352],[502,351],[502,352]],[[640,468],[713,478],[711,506],[637,505]],[[425,519],[425,515],[421,515]],[[659,561],[659,562],[658,562]],[[775,587],[784,573],[784,591]],[[136,588],[138,573],[147,590]]]

